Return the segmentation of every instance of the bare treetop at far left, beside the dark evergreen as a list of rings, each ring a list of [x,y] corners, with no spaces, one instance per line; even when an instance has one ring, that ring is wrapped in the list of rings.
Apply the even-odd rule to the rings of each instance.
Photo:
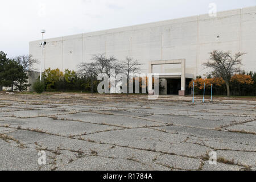
[[[32,55],[17,56],[14,58],[14,60],[22,65],[24,72],[36,71],[34,65],[39,63],[38,60],[32,58]]]

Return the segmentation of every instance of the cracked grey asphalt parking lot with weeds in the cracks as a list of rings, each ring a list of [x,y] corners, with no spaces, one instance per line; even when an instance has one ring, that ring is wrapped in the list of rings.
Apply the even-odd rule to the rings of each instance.
[[[256,170],[255,134],[256,101],[0,94],[0,170]]]

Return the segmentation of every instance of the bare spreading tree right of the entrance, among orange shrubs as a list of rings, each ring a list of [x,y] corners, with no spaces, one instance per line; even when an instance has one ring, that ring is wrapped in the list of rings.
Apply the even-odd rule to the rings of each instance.
[[[228,97],[230,96],[230,79],[234,73],[240,73],[242,65],[241,56],[245,53],[238,52],[232,56],[230,51],[216,51],[210,52],[210,60],[203,65],[206,68],[212,68],[212,75],[222,77],[226,84]]]

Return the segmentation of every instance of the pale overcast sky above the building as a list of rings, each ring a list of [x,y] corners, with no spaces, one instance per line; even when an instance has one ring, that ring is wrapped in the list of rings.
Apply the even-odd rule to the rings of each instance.
[[[256,0],[2,0],[0,51],[9,57],[28,54],[28,42],[83,32],[157,22],[256,6]]]

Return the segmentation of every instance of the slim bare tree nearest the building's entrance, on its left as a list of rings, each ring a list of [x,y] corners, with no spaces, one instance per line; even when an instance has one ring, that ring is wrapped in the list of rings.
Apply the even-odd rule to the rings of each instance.
[[[129,94],[129,77],[132,73],[139,73],[141,68],[138,60],[134,60],[132,57],[126,57],[126,60],[122,62],[121,68],[122,73],[124,73],[127,77],[127,96]]]

